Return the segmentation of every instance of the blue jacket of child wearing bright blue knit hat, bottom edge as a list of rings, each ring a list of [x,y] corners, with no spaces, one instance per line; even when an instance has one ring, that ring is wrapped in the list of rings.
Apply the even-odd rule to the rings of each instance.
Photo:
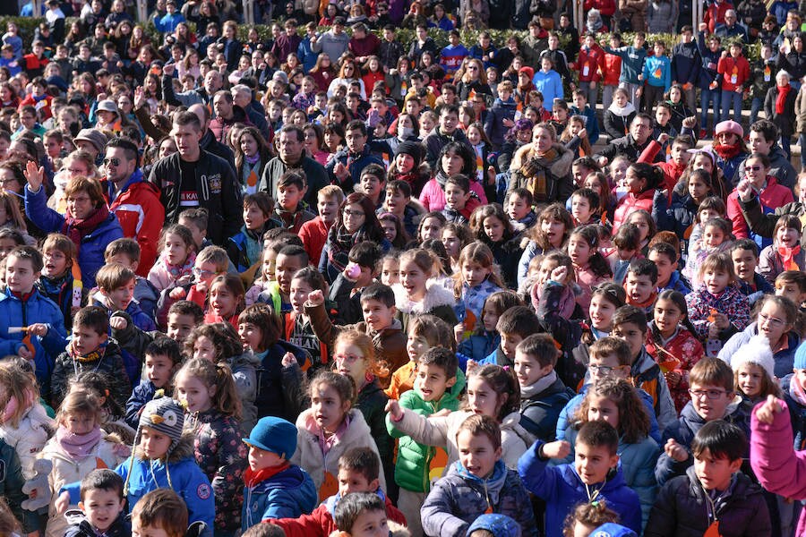
[[[319,498],[311,476],[297,465],[272,475],[253,487],[244,487],[241,530],[267,518],[309,515]]]

